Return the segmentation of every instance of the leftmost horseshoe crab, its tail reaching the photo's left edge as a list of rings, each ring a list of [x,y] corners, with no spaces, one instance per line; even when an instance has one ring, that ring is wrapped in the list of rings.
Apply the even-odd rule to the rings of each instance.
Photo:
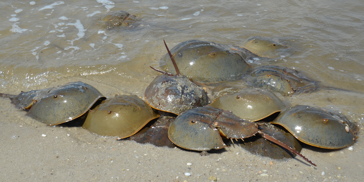
[[[50,126],[78,118],[96,101],[106,99],[96,88],[83,82],[0,96],[9,97],[18,108],[30,109],[25,115]]]

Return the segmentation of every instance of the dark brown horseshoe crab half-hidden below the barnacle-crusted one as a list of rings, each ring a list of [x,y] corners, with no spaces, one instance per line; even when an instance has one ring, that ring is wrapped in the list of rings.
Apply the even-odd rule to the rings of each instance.
[[[161,116],[152,126],[132,135],[129,140],[138,143],[151,143],[157,147],[174,148],[175,145],[168,138],[168,128],[175,119],[175,117],[171,116]]]

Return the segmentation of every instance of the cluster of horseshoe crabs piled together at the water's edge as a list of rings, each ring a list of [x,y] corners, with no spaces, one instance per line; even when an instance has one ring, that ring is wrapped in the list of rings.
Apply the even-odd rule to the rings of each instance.
[[[50,126],[78,119],[83,128],[98,135],[195,151],[222,149],[225,139],[232,143],[234,139],[252,153],[276,159],[298,155],[315,165],[299,153],[300,142],[342,149],[357,139],[356,125],[344,115],[310,106],[289,107],[273,93],[316,89],[316,82],[296,70],[252,68],[240,55],[252,52],[240,48],[237,54],[214,42],[188,40],[171,52],[165,46],[165,71],[153,68],[162,75],[146,88],[146,101],[135,95],[106,99],[83,82],[0,96],[9,97],[16,107],[28,111],[26,115]],[[233,89],[216,98],[208,98],[205,89],[209,88],[195,82],[241,78],[251,88]],[[155,122],[148,124],[151,120]]]

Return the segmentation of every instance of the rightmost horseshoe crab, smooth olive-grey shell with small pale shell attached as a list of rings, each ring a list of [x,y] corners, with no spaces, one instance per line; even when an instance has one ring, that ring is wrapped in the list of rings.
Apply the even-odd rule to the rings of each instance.
[[[271,123],[288,130],[299,141],[324,149],[342,149],[358,138],[348,120],[334,118],[324,110],[297,105],[284,110]]]

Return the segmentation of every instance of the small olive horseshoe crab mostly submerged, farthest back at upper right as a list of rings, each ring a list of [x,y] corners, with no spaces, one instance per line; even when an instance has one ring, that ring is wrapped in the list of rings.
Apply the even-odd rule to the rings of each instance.
[[[258,56],[267,58],[277,57],[274,53],[280,49],[286,48],[286,46],[279,43],[278,40],[264,36],[250,36],[242,43],[242,47]]]

